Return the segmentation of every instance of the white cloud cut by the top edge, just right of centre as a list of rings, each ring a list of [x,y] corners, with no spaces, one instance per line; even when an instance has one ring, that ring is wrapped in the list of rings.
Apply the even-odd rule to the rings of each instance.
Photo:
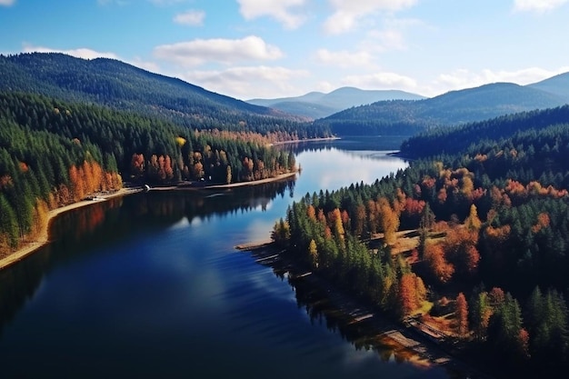
[[[356,22],[376,12],[396,12],[413,6],[417,0],[329,0],[334,14],[324,22],[324,31],[339,35],[350,31]]]

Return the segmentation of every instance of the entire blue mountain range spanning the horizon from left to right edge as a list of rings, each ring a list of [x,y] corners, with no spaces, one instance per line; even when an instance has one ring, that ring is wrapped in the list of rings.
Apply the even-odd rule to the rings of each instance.
[[[107,105],[195,129],[250,130],[297,137],[414,135],[569,103],[569,73],[532,85],[494,83],[424,98],[404,91],[339,88],[329,94],[253,99],[207,91],[114,59],[57,53],[0,55],[0,91]],[[307,123],[307,119],[315,119]],[[298,133],[297,133],[298,131]]]

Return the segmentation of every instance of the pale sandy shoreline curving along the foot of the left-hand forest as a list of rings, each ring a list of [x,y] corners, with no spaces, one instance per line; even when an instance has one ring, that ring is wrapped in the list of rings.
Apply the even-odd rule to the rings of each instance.
[[[195,191],[195,190],[208,190],[208,189],[220,189],[220,188],[234,188],[246,185],[263,185],[272,182],[278,182],[281,180],[289,179],[295,176],[298,171],[294,171],[291,173],[286,173],[282,175],[277,175],[272,178],[265,178],[261,180],[255,180],[252,182],[238,182],[232,183],[229,185],[198,185],[198,186],[186,186],[180,187],[177,185],[172,186],[165,186],[165,187],[153,187],[151,191]],[[120,190],[112,193],[112,194],[99,194],[93,200],[81,200],[79,202],[73,204],[67,204],[65,206],[61,206],[59,208],[55,208],[47,214],[47,221],[45,222],[45,226],[43,230],[38,234],[34,241],[29,241],[22,243],[22,245],[16,249],[14,252],[8,253],[7,255],[0,258],[0,271],[4,270],[6,267],[11,266],[12,264],[16,264],[21,260],[25,259],[25,257],[29,256],[30,254],[35,253],[37,250],[41,249],[45,246],[45,244],[49,244],[49,229],[51,227],[51,223],[54,221],[55,217],[59,214],[63,214],[68,211],[72,211],[77,208],[81,208],[84,206],[89,206],[90,204],[95,204],[97,201],[105,201],[106,199],[126,196],[129,194],[137,194],[140,192],[144,192],[145,189],[141,187],[126,187],[121,188]]]

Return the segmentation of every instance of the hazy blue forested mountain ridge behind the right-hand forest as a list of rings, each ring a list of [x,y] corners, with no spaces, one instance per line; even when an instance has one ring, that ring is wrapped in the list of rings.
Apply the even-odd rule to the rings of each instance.
[[[434,126],[462,125],[564,104],[567,100],[562,95],[532,86],[494,83],[424,100],[362,105],[316,120],[315,124],[329,126],[336,135],[414,135]]]

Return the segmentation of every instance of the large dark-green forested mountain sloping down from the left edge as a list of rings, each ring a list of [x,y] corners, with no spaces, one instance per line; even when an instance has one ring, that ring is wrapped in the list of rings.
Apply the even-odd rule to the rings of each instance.
[[[106,105],[195,129],[243,130],[245,125],[265,134],[292,133],[304,125],[297,116],[108,58],[85,60],[59,53],[0,55],[0,91]]]

